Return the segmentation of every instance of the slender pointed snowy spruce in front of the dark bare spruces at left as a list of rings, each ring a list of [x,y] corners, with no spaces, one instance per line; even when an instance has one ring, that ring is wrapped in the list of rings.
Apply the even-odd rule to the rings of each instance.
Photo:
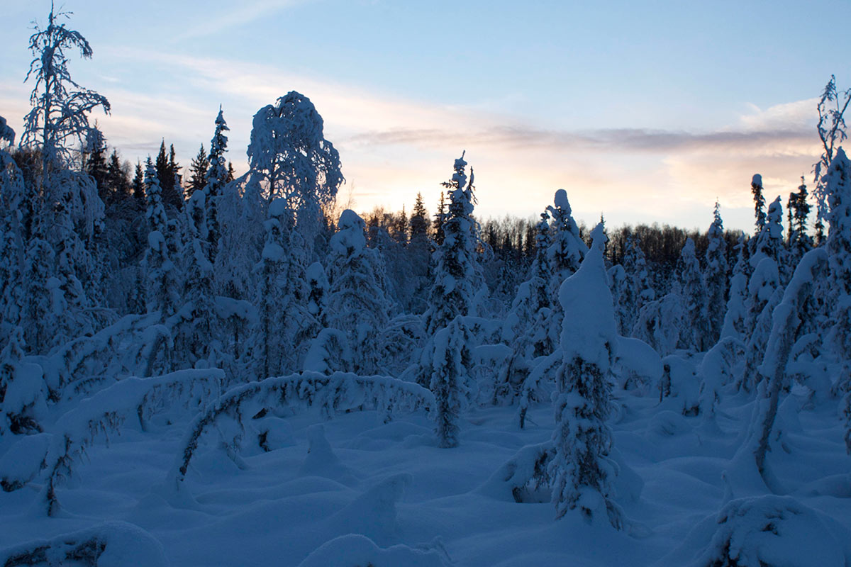
[[[167,321],[177,312],[180,303],[176,267],[168,254],[168,217],[163,207],[163,191],[157,171],[148,158],[145,173],[148,208],[146,217],[150,232],[145,252],[146,306],[148,313],[158,312],[160,321]]]

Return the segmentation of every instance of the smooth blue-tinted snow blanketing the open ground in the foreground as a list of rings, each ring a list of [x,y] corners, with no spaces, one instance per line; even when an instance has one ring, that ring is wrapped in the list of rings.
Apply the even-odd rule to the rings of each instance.
[[[763,556],[777,550],[778,565],[848,564],[851,456],[836,402],[803,405],[802,394],[784,402],[783,434],[768,456],[774,490],[793,500],[751,502],[771,507],[780,499],[802,513],[797,522],[777,519],[779,536],[762,525],[740,530],[739,544]],[[0,493],[0,548],[100,530],[115,541],[117,558],[108,564],[125,565],[157,558],[187,567],[707,564],[700,558],[711,553],[722,508],[757,496],[748,493],[746,467],[734,464],[753,403],[728,396],[711,423],[683,417],[676,399],[660,405],[653,395],[619,391],[616,401],[610,423],[621,465],[616,500],[628,518],[622,531],[587,524],[575,511],[556,520],[547,495],[517,503],[501,483],[500,467],[519,449],[550,439],[548,404],[533,407],[525,429],[514,407],[473,409],[453,449],[437,447],[421,411],[386,424],[374,411],[330,420],[315,409],[270,413],[249,425],[240,466],[206,434],[175,493],[167,479],[191,420],[186,412],[145,432],[128,422],[108,445],[95,442],[60,485],[55,518],[45,516],[38,485]],[[803,405],[797,421],[794,405]],[[271,451],[250,433],[260,429],[269,431]]]

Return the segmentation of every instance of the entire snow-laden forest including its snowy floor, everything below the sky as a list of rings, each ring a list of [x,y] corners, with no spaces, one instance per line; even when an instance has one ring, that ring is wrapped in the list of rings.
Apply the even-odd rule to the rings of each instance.
[[[67,22],[0,116],[0,564],[851,565],[851,89],[752,235],[477,218],[462,149],[356,213],[295,91],[241,175],[224,109],[124,159]]]

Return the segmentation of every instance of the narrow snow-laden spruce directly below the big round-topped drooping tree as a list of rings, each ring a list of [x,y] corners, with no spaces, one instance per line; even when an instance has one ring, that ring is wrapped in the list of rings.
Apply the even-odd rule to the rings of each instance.
[[[254,378],[262,380],[284,374],[285,349],[292,349],[292,335],[285,327],[283,282],[287,278],[287,248],[292,212],[287,200],[277,197],[269,205],[266,227],[266,246],[260,263],[254,267],[258,286],[254,307],[257,321],[251,331],[252,367]]]

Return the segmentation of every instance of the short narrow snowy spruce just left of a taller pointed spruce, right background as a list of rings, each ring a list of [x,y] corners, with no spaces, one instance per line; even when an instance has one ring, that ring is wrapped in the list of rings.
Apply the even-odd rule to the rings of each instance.
[[[677,261],[677,282],[683,298],[683,330],[680,343],[684,349],[703,351],[709,343],[709,321],[706,317],[706,288],[700,262],[694,253],[694,241],[688,238]]]

